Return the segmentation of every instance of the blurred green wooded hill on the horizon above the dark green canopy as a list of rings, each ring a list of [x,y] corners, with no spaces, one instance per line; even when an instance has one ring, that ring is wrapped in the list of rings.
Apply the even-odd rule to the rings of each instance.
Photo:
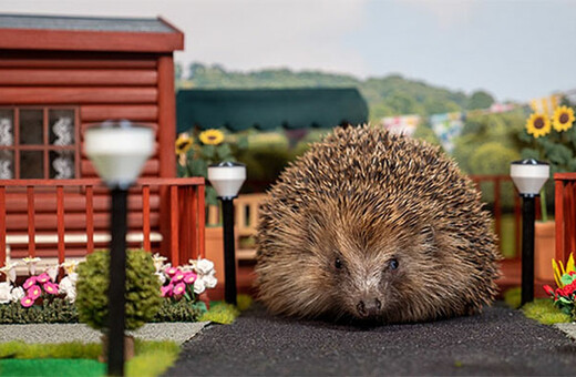
[[[193,63],[187,69],[176,65],[176,83],[178,88],[204,89],[354,86],[367,100],[372,122],[390,115],[431,115],[485,109],[494,102],[494,98],[485,91],[469,95],[398,74],[361,80],[352,75],[319,71],[272,69],[235,72],[227,71],[222,65]]]

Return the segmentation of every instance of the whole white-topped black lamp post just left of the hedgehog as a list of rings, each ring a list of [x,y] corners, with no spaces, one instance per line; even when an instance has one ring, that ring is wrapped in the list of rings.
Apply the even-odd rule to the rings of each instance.
[[[234,245],[234,204],[246,181],[246,165],[236,162],[220,162],[208,166],[208,181],[222,201],[224,223],[224,299],[236,305],[236,255]]]

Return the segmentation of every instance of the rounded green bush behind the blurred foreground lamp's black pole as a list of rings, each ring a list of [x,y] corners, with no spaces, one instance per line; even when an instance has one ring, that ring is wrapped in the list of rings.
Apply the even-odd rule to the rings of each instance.
[[[90,254],[78,266],[76,307],[80,322],[95,329],[107,325],[107,287],[110,253]],[[160,281],[150,253],[126,252],[126,329],[136,329],[150,322],[158,312],[162,297]]]

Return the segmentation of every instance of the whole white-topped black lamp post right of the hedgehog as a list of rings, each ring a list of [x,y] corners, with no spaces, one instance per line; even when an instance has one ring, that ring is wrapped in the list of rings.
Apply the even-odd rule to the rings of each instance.
[[[514,161],[510,175],[522,196],[522,305],[534,300],[535,197],[549,176],[547,163],[533,159]]]

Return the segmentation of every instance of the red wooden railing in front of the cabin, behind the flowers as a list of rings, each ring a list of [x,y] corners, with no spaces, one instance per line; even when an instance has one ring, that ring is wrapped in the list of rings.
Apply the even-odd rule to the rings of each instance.
[[[128,194],[128,245],[163,252],[162,242],[173,265],[204,257],[204,184],[203,177],[138,180]],[[0,265],[18,245],[23,256],[37,256],[41,245],[42,256],[55,254],[60,263],[107,247],[107,193],[95,179],[0,180]]]

